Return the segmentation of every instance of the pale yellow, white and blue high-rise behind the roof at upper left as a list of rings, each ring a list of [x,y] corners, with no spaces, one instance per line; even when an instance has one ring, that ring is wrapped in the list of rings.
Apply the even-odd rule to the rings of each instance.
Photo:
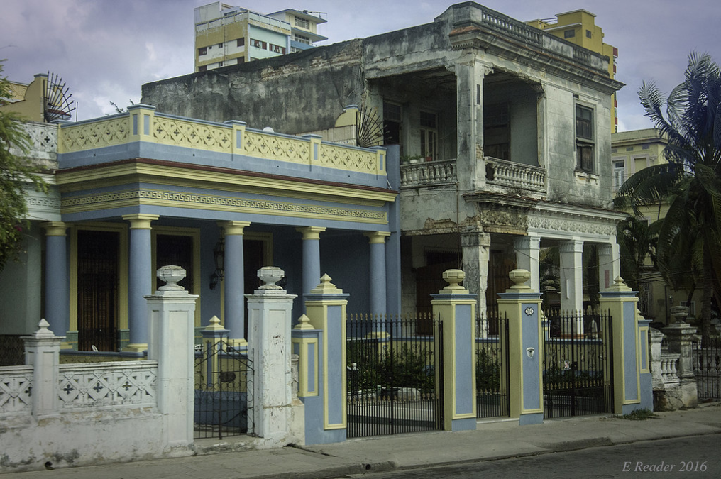
[[[327,40],[317,33],[317,25],[327,20],[307,10],[265,15],[216,1],[194,13],[195,71],[285,55]]]

